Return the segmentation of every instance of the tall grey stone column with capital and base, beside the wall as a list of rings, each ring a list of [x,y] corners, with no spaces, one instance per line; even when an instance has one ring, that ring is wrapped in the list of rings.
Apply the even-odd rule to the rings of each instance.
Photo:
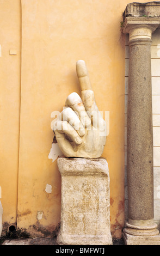
[[[143,15],[146,8],[150,11],[150,17]],[[152,4],[132,3],[127,5],[124,13],[124,33],[130,35],[127,111],[128,222],[123,233],[127,245],[160,245],[157,224],[153,222],[150,53],[151,36],[159,25],[159,17],[155,17],[154,8],[151,8]]]

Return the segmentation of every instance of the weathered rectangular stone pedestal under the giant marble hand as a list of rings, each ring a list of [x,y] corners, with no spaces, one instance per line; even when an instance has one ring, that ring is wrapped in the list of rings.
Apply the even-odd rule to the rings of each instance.
[[[59,157],[59,245],[112,245],[107,161]]]

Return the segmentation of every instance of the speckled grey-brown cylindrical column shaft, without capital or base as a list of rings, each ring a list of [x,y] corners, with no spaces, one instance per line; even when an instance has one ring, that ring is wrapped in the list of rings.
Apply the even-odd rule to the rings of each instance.
[[[131,224],[153,224],[151,39],[130,45],[127,121],[128,215]]]

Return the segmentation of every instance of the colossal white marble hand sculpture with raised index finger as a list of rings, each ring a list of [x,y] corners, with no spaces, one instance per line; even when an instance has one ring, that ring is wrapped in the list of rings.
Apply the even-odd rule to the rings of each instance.
[[[81,97],[71,93],[53,124],[59,148],[66,157],[97,158],[106,143],[106,122],[96,106],[87,66],[78,60],[76,71]]]

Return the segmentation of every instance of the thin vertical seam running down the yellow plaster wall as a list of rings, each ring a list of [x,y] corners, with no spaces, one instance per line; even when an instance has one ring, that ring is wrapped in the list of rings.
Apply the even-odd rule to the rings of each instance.
[[[21,83],[22,83],[22,4],[20,0],[20,109],[19,109],[19,149],[18,149],[18,170],[17,170],[17,210],[16,210],[16,223],[17,211],[19,204],[19,166],[20,166],[20,133],[21,133]]]

